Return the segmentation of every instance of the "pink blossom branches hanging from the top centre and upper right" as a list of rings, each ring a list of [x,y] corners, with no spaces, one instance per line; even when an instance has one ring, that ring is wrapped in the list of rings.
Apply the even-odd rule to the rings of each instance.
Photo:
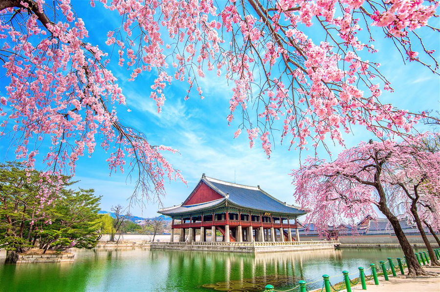
[[[351,132],[351,125],[385,139],[408,135],[420,119],[439,123],[427,112],[382,104],[381,87],[392,91],[391,84],[379,63],[361,58],[364,51],[376,53],[374,39],[385,37],[404,62],[418,62],[438,74],[434,51],[417,33],[421,27],[439,32],[428,25],[436,17],[437,1],[102,2],[122,16],[107,41],[118,48],[120,65],[132,69],[132,79],[157,71],[150,97],[158,112],[166,99],[163,88],[173,79],[188,82],[186,99],[194,87],[203,98],[198,79],[217,70],[234,84],[228,122],[242,112],[235,137],[246,128],[250,146],[260,137],[267,155],[274,129],[281,130],[282,141],[288,138],[290,146],[302,149],[308,138],[315,147],[326,137],[344,144],[341,131]],[[309,38],[300,28],[304,25],[323,33],[322,42]],[[256,118],[250,107],[257,109]]]

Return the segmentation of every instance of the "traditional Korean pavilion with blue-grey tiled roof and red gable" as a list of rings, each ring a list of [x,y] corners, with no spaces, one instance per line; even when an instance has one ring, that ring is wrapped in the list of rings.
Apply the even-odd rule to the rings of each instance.
[[[260,186],[225,182],[205,174],[181,205],[158,212],[172,218],[171,242],[175,229],[180,229],[179,242],[188,243],[195,242],[197,229],[200,242],[206,242],[209,229],[211,241],[217,240],[217,230],[224,242],[299,241],[297,217],[306,214],[305,210],[272,197]]]

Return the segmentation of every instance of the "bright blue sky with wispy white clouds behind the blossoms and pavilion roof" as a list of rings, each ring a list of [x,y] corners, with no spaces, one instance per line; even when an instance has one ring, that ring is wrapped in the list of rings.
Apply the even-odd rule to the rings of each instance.
[[[96,8],[91,8],[88,1],[72,2],[78,17],[83,18],[88,28],[88,42],[98,44],[104,51],[110,51],[104,42],[107,31],[118,26],[117,15],[102,8],[100,3],[96,3]],[[427,47],[435,49],[438,58],[438,35],[425,37]],[[411,111],[439,110],[440,79],[437,75],[418,63],[403,65],[400,55],[388,40],[378,40],[375,47],[379,49],[379,53],[370,55],[369,60],[382,64],[382,72],[395,88],[394,93],[383,94],[383,103],[392,103]],[[250,149],[245,133],[233,139],[239,122],[235,120],[231,126],[227,125],[231,87],[223,79],[208,74],[200,80],[204,100],[194,94],[188,101],[184,101],[187,89],[184,84],[174,83],[167,86],[167,101],[162,112],[157,114],[155,102],[149,98],[154,72],[143,73],[135,82],[128,82],[130,71],[117,64],[111,65],[110,69],[120,80],[119,84],[127,97],[127,106],[132,110],[128,112],[126,108],[119,108],[121,120],[146,133],[151,144],[172,146],[179,150],[179,154],[166,154],[166,157],[174,167],[181,170],[188,185],[181,182],[167,184],[167,195],[162,198],[165,207],[183,202],[202,173],[222,180],[235,180],[241,184],[260,185],[280,200],[294,203],[292,181],[288,174],[291,169],[299,166],[299,152],[294,149],[288,151],[287,146],[275,144],[268,160],[259,140]],[[4,93],[5,85],[2,77],[0,93]],[[424,127],[420,127],[422,128]],[[354,133],[346,134],[344,138],[347,147],[350,147],[369,139],[370,135],[364,128],[356,126]],[[7,144],[8,141],[1,140],[0,159],[3,161],[13,159],[11,153],[5,151]],[[335,155],[342,149],[341,146],[330,148]],[[319,153],[328,158],[323,150],[320,149]],[[303,152],[302,158],[307,154],[307,151]],[[96,194],[103,196],[101,206],[104,210],[110,210],[111,206],[117,204],[127,205],[127,198],[133,190],[126,174],[109,175],[105,161],[107,157],[106,153],[97,148],[91,158],[80,158],[75,177],[80,180],[78,187],[94,188]],[[157,202],[147,202],[146,208],[132,207],[131,212],[149,217],[154,216],[158,208]]]

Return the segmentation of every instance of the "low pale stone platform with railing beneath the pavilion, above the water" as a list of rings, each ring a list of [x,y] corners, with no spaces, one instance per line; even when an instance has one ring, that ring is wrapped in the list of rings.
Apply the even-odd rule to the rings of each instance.
[[[198,250],[222,252],[279,252],[297,250],[333,250],[338,240],[300,242],[152,242],[152,250]]]

